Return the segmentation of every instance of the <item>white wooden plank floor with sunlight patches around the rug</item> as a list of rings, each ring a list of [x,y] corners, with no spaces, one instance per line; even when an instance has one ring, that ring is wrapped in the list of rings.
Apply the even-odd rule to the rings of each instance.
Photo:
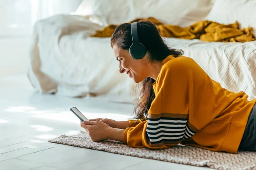
[[[206,169],[47,142],[81,130],[73,106],[89,119],[126,120],[132,113],[128,104],[38,94],[25,75],[0,78],[0,170]]]

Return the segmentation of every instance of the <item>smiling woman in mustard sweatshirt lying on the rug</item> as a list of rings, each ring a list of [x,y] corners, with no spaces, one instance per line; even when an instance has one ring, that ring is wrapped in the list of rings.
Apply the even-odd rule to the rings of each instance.
[[[116,28],[111,47],[120,73],[142,82],[134,110],[138,121],[81,122],[91,139],[153,149],[181,143],[230,153],[256,151],[256,99],[248,101],[243,91],[222,88],[193,59],[182,56],[183,51],[169,48],[152,23],[139,22],[136,31],[145,46],[141,59],[131,57],[135,32],[129,23]]]

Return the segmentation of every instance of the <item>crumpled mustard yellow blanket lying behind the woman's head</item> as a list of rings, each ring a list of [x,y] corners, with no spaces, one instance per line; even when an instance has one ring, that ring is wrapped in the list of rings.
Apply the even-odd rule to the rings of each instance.
[[[171,24],[164,25],[153,17],[145,19],[139,18],[130,23],[140,20],[147,20],[154,23],[162,37],[174,37],[189,40],[200,39],[203,41],[219,42],[247,42],[256,40],[252,33],[253,28],[240,29],[237,21],[233,24],[224,25],[204,20],[198,21],[187,28]],[[111,37],[116,27],[117,25],[109,25],[102,31],[96,31],[96,34],[92,35],[92,37]]]

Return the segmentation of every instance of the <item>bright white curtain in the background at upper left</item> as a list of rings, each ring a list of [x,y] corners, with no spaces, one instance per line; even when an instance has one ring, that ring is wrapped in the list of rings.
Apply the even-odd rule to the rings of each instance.
[[[82,0],[0,0],[0,37],[31,34],[37,20],[70,14]]]

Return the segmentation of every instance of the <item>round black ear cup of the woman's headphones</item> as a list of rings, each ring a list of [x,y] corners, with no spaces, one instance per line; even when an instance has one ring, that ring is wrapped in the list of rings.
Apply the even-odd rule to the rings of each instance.
[[[134,59],[142,59],[146,55],[146,48],[140,42],[135,42],[131,45],[129,49],[130,55]]]

